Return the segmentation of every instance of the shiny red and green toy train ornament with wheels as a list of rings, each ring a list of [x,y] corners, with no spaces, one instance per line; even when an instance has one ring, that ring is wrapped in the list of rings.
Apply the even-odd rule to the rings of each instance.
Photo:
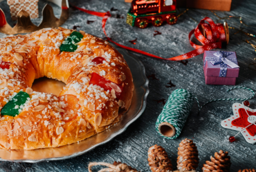
[[[166,21],[173,25],[177,22],[176,0],[134,0],[127,13],[127,23],[138,28],[147,28],[149,23],[158,27]]]

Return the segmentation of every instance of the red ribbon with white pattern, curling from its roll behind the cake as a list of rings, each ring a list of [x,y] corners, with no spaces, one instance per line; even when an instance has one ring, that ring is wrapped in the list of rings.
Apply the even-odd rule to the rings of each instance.
[[[111,17],[111,14],[109,11],[108,12],[94,12],[91,10],[86,10],[84,8],[78,8],[76,6],[73,6],[73,7],[76,8],[77,10],[81,10],[88,14],[102,17],[103,18],[102,19],[102,30],[103,30],[104,34],[107,36],[106,30],[105,30],[105,25],[106,25],[107,19],[109,17]],[[205,21],[208,21],[209,24],[205,23]],[[203,32],[203,30],[205,30],[206,37],[203,36],[203,34],[201,33],[201,32]],[[202,45],[196,45],[195,43],[193,43],[190,40],[193,33],[196,36],[196,39],[198,39]],[[142,50],[138,50],[136,48],[121,45],[119,43],[116,43],[115,41],[112,41],[109,38],[109,36],[107,36],[107,39],[108,39],[108,41],[111,41],[112,43],[118,45],[119,47],[125,48],[126,50],[131,50],[133,52],[138,52],[140,54],[144,54],[144,55],[151,56],[154,58],[160,58],[160,59],[167,60],[167,61],[182,61],[182,60],[185,60],[188,58],[192,58],[199,54],[203,54],[203,52],[205,50],[221,48],[222,42],[226,41],[226,34],[225,34],[225,30],[223,28],[223,25],[219,24],[219,23],[215,24],[214,21],[212,21],[212,19],[210,19],[209,17],[205,17],[204,19],[202,19],[200,21],[199,25],[197,25],[196,28],[190,32],[188,37],[190,40],[190,45],[192,45],[192,47],[194,47],[196,50],[182,54],[180,56],[174,56],[171,58],[162,58],[161,56],[156,56],[154,54],[150,54],[150,53],[144,52]]]

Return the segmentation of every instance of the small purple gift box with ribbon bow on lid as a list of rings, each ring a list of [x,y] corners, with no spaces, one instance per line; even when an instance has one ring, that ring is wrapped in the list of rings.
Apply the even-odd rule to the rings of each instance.
[[[203,72],[206,85],[235,85],[239,75],[239,68],[232,68],[221,61],[216,54],[223,54],[224,58],[232,63],[237,63],[237,54],[235,52],[205,51],[203,54]],[[215,63],[216,64],[215,64]],[[215,65],[214,65],[215,64]],[[234,67],[234,66],[233,66]]]

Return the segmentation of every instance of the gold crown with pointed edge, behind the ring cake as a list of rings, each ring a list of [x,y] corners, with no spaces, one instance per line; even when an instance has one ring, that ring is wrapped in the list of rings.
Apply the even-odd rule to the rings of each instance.
[[[66,19],[68,19],[68,0],[51,0],[51,2],[62,8],[60,19],[55,17],[53,8],[46,4],[42,11],[43,20],[38,26],[32,23],[30,14],[26,12],[26,10],[20,10],[17,14],[17,24],[12,28],[7,23],[6,16],[0,8],[0,32],[3,34],[20,34],[34,32],[35,30],[41,30],[42,28],[59,27],[66,21]]]

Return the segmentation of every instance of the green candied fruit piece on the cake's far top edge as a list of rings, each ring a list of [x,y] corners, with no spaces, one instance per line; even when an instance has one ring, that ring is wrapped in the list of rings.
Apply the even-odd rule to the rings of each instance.
[[[77,45],[75,43],[79,43],[84,36],[80,32],[72,32],[65,41],[60,45],[61,52],[75,52],[77,50]]]

